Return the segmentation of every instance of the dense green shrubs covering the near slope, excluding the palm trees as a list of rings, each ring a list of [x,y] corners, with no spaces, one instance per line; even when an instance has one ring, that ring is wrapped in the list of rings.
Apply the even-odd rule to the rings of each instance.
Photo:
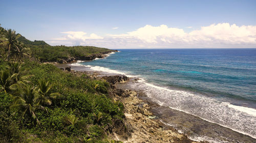
[[[0,65],[0,67],[3,67]],[[20,75],[33,75],[29,80],[31,85],[38,84],[38,80],[48,80],[50,93],[60,93],[46,111],[36,110],[35,115],[39,124],[30,116],[20,118],[11,116],[13,111],[10,95],[0,92],[0,130],[1,142],[23,140],[30,142],[81,142],[81,138],[90,134],[89,142],[106,142],[102,140],[102,128],[112,126],[114,122],[122,122],[123,104],[113,102],[109,98],[110,85],[108,82],[80,77],[59,70],[52,64],[39,64],[35,61],[25,61],[20,68]],[[97,85],[97,87],[95,87]],[[70,111],[73,110],[73,112]],[[75,124],[66,124],[64,118],[73,115],[77,118]],[[7,126],[10,125],[10,126]],[[91,125],[88,128],[88,125]]]

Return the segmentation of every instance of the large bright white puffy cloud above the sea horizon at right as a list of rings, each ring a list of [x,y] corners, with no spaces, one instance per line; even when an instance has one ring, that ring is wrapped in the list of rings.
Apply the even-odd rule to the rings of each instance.
[[[226,46],[226,45],[256,45],[256,26],[237,26],[229,23],[211,24],[200,30],[185,33],[181,28],[167,25],[145,25],[136,31],[120,35],[110,35],[113,38],[139,39],[143,43],[155,46]],[[147,45],[145,44],[145,45]]]

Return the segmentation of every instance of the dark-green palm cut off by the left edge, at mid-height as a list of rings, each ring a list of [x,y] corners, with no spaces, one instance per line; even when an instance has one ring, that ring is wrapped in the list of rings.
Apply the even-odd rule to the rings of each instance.
[[[0,86],[5,93],[10,92],[10,86],[15,83],[14,79],[17,77],[17,73],[10,74],[8,70],[0,71]]]

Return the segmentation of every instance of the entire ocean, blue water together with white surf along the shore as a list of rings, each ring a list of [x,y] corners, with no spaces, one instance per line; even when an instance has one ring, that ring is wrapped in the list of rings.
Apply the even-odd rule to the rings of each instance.
[[[118,50],[76,65],[138,77],[158,104],[256,138],[256,49]]]

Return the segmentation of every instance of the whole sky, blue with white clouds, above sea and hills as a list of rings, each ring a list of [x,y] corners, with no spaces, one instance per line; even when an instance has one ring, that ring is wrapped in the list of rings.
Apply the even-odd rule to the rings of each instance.
[[[50,45],[256,48],[256,1],[0,1],[2,27]]]

